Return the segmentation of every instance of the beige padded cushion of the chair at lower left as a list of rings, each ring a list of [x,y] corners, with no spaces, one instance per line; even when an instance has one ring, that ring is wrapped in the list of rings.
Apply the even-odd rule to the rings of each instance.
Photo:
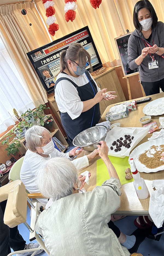
[[[21,180],[0,187],[0,202],[7,200],[4,223],[10,228],[26,221],[27,193]]]

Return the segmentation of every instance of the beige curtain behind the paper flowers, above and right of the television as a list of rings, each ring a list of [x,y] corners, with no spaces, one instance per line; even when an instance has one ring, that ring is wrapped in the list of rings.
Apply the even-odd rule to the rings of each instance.
[[[53,1],[55,17],[60,26],[55,36],[51,37],[53,40],[88,25],[104,66],[114,67],[121,64],[114,38],[126,34],[127,29],[130,32],[135,29],[133,8],[137,0],[102,0],[96,10],[91,6],[89,0],[77,1],[76,18],[73,22],[65,20],[65,1]],[[164,22],[164,1],[150,0],[150,2],[156,10],[158,20]],[[42,19],[46,21],[42,0],[35,0],[35,3]]]

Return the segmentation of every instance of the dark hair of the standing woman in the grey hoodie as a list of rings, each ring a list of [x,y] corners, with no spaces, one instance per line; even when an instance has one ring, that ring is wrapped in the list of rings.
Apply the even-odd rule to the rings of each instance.
[[[139,30],[139,32],[142,31],[142,26],[138,21],[138,12],[142,8],[147,8],[150,11],[152,21],[153,21],[152,28],[156,27],[157,21],[158,21],[158,17],[156,15],[156,12],[155,12],[154,7],[151,4],[151,2],[149,2],[148,0],[140,0],[140,1],[136,2],[135,6],[134,6],[134,11],[133,11],[133,24],[134,24],[134,27],[137,30]]]

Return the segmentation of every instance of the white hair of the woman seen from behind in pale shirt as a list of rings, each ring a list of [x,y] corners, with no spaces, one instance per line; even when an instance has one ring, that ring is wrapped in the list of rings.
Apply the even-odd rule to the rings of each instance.
[[[64,157],[53,157],[36,173],[36,185],[46,198],[53,201],[72,194],[78,172],[73,163]]]

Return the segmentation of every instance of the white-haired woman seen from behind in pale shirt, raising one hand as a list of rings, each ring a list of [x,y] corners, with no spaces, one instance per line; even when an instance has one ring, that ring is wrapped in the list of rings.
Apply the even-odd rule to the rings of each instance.
[[[39,191],[53,200],[35,223],[50,256],[130,256],[145,238],[143,232],[144,238],[142,234],[123,234],[110,220],[120,206],[121,183],[109,160],[106,142],[100,144],[99,156],[110,179],[92,191],[78,193],[81,182],[68,159],[49,159],[36,174]]]

